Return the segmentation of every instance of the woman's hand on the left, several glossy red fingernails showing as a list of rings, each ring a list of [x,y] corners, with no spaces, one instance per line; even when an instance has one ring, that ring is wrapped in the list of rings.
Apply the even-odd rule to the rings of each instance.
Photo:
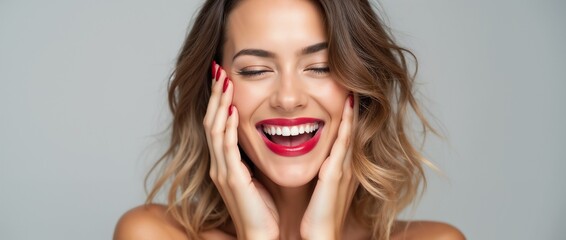
[[[232,82],[215,62],[212,72],[212,94],[203,122],[210,152],[210,178],[226,204],[238,239],[278,239],[279,215],[273,199],[241,161]]]

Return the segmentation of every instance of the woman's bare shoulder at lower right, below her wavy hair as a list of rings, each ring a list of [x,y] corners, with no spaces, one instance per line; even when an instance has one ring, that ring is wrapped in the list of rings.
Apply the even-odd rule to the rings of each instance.
[[[391,240],[465,240],[456,227],[433,221],[397,221],[392,229]]]

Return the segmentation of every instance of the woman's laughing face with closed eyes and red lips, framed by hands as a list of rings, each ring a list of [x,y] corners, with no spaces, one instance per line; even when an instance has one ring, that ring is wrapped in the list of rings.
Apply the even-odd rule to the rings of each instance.
[[[245,0],[228,17],[222,65],[234,86],[238,141],[281,186],[317,175],[348,95],[329,73],[321,14],[311,1]]]

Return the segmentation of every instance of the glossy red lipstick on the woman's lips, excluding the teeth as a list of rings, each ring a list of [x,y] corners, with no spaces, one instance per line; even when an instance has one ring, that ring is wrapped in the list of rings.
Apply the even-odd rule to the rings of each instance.
[[[285,145],[277,144],[272,140],[270,140],[266,136],[266,133],[263,132],[263,125],[297,126],[297,125],[309,124],[309,123],[310,124],[318,123],[319,128],[316,130],[314,136],[312,136],[309,140],[296,146],[285,146]],[[324,124],[322,120],[316,118],[295,118],[295,119],[273,118],[273,119],[266,119],[260,121],[259,123],[256,124],[256,127],[258,128],[258,131],[261,131],[260,135],[262,136],[262,139],[265,142],[267,148],[269,148],[269,150],[271,150],[277,155],[281,155],[284,157],[296,157],[306,154],[310,152],[312,149],[314,149],[314,147],[316,147],[316,144],[318,143],[318,140],[320,139],[320,134],[322,132],[320,130],[324,127]],[[304,134],[308,134],[308,133],[304,133]]]

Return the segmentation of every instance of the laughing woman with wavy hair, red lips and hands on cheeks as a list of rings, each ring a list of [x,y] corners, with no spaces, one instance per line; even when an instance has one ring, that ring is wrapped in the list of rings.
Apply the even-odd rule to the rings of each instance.
[[[210,0],[194,26],[163,171],[115,239],[463,239],[395,220],[428,163],[405,114],[428,123],[368,1]]]

